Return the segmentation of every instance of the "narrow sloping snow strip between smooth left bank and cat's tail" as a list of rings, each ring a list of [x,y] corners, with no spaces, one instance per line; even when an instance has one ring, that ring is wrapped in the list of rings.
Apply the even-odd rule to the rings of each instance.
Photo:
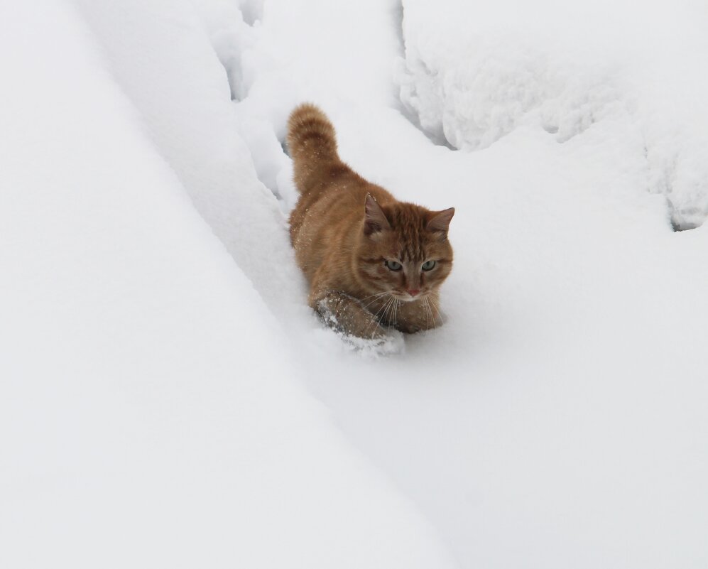
[[[256,177],[199,12],[189,1],[171,0],[87,0],[80,7],[114,78],[197,211],[262,296],[290,298],[273,288],[271,268],[263,264],[268,257],[294,267],[285,218]],[[236,9],[227,11],[234,13],[240,18]],[[297,296],[303,284],[297,278],[292,284]]]

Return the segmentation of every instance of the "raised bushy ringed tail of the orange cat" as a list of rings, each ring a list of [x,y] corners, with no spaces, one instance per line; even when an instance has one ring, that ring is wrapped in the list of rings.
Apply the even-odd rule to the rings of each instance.
[[[295,107],[288,119],[288,150],[293,158],[295,185],[302,192],[320,168],[339,163],[334,126],[314,104]]]

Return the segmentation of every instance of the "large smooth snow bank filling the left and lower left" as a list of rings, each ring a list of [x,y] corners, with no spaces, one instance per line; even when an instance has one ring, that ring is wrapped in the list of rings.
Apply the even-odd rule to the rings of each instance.
[[[175,48],[163,72],[216,70],[194,44],[179,60],[197,26],[163,9],[109,16],[126,44]],[[0,565],[450,566],[300,386],[281,326],[185,193],[200,180],[256,209],[236,139],[207,156],[225,77],[204,72],[178,112],[159,54],[121,52],[116,30],[101,53],[70,4],[4,5],[0,21]],[[173,122],[146,112],[157,97]]]

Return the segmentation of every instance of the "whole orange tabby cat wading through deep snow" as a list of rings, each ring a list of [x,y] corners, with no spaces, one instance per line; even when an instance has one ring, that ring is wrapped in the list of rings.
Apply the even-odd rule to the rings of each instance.
[[[342,162],[334,126],[312,104],[288,120],[288,149],[300,193],[290,239],[326,323],[361,338],[387,327],[418,332],[442,324],[439,288],[452,269],[447,240],[454,207],[399,202]]]

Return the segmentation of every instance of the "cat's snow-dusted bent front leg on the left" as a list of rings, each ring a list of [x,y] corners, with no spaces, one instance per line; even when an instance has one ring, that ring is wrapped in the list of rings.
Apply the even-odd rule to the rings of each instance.
[[[360,338],[380,338],[386,330],[360,300],[331,288],[318,288],[310,294],[310,306],[335,330]]]

